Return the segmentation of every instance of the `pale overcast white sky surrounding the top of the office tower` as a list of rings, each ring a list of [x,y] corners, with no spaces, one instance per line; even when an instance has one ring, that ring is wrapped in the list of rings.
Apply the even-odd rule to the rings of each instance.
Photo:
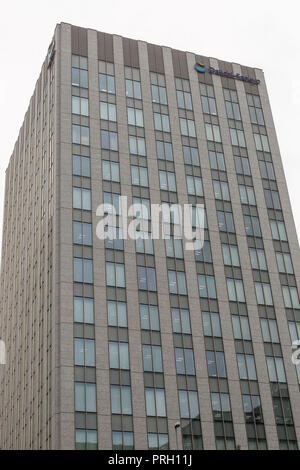
[[[299,0],[2,2],[0,239],[5,169],[55,25],[62,21],[262,68],[299,235],[299,17]]]

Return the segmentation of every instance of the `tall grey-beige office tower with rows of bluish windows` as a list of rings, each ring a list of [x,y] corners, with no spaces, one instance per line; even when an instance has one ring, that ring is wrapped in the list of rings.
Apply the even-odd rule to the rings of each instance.
[[[120,195],[204,204],[203,249],[123,240]],[[299,245],[260,69],[59,24],[3,225],[1,448],[298,448]]]

